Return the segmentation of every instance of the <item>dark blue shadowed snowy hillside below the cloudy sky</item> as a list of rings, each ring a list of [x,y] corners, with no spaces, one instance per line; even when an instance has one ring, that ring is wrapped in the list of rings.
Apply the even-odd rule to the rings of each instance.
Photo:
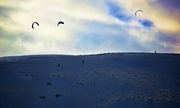
[[[0,108],[180,108],[180,55],[2,57]]]

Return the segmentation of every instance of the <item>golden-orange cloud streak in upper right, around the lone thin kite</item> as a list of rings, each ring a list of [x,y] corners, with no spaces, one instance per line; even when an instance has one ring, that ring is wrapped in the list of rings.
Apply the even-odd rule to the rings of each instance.
[[[127,14],[133,15],[136,10],[143,10],[143,19],[154,22],[157,30],[167,33],[180,33],[179,17],[170,15],[166,9],[162,8],[158,0],[114,0],[126,10]],[[171,11],[172,12],[172,11]]]

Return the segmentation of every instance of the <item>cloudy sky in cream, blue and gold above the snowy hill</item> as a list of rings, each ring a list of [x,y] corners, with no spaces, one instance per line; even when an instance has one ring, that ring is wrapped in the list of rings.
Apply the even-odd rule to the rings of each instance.
[[[0,0],[0,56],[155,50],[180,53],[180,0]]]

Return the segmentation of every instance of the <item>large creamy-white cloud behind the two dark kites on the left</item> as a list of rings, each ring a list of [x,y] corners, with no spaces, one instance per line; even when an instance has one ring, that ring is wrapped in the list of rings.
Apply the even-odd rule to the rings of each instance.
[[[90,29],[85,26],[85,22],[109,24],[109,18],[104,10],[98,9],[101,4],[95,5],[91,2],[74,2],[72,0],[49,0],[46,2],[30,0],[19,1],[19,4],[16,12],[7,12],[10,18],[3,21],[2,26],[7,30],[6,32],[23,32],[32,38],[33,41],[23,41],[23,47],[26,49],[24,54],[76,54],[79,51],[73,46],[76,38],[78,38],[75,34],[83,31],[88,32],[88,29]],[[47,7],[44,7],[44,5]],[[81,6],[81,9],[79,6]],[[64,21],[65,25],[57,27],[57,22],[60,20]],[[13,23],[10,24],[9,21]],[[37,21],[40,26],[32,30],[31,24],[34,21]]]

